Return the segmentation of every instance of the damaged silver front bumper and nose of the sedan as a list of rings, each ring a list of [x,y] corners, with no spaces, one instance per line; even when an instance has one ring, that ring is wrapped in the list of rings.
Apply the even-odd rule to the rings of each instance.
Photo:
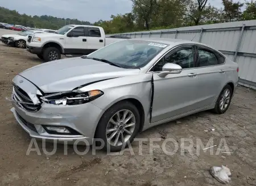
[[[54,105],[47,102],[38,104],[38,98],[35,95],[39,94],[39,90],[34,84],[22,76],[16,76],[13,82],[14,86],[20,89],[17,90],[15,87],[12,97],[7,100],[13,104],[11,111],[16,121],[31,138],[50,142],[56,140],[58,143],[63,143],[63,141],[73,143],[76,140],[86,140],[87,144],[93,143],[97,123],[104,110],[90,102],[81,105]],[[30,97],[34,105],[31,105],[30,100],[22,100],[22,96],[26,96],[25,92],[26,98]],[[36,111],[29,110],[37,105],[40,108]],[[59,132],[60,130],[62,131]]]

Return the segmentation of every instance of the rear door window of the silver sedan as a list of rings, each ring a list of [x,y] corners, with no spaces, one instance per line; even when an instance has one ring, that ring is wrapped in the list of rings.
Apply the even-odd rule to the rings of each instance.
[[[207,49],[198,49],[199,53],[199,67],[207,67],[211,65],[217,65],[218,64],[218,59],[214,52],[211,52]]]

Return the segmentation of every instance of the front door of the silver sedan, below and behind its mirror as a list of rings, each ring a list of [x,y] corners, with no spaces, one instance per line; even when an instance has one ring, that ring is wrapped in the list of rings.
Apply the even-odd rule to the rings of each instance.
[[[182,46],[168,52],[153,68],[154,99],[151,123],[198,109],[194,46]],[[179,64],[181,73],[159,77],[159,71],[166,63]]]

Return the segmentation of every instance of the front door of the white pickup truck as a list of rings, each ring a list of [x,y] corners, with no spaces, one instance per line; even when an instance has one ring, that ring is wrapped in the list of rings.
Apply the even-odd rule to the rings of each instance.
[[[86,54],[88,49],[86,27],[75,27],[65,36],[65,54]]]

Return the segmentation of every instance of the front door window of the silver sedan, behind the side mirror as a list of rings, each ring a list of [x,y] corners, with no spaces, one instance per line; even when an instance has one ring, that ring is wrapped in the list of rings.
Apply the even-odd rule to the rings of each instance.
[[[183,69],[194,67],[194,55],[192,47],[185,47],[176,52],[167,53],[153,68],[154,72],[162,71],[163,65],[174,63],[180,65]]]

